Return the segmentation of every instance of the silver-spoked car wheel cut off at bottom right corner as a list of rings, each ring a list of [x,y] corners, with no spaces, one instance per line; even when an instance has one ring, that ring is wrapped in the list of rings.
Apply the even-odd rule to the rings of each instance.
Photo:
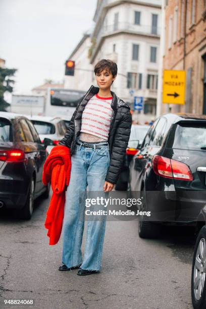
[[[206,226],[199,231],[196,239],[191,274],[191,298],[195,309],[206,307]]]

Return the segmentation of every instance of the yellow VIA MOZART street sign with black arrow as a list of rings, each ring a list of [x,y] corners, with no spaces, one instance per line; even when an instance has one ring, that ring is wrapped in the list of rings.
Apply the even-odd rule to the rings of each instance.
[[[164,70],[163,103],[185,104],[185,71]]]

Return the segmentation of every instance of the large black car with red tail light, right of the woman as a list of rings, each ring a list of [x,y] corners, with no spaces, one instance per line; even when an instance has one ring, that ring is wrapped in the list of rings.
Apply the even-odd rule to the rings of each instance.
[[[139,236],[155,237],[160,223],[195,225],[206,202],[206,116],[164,114],[147,132],[130,165],[128,192],[141,196]]]

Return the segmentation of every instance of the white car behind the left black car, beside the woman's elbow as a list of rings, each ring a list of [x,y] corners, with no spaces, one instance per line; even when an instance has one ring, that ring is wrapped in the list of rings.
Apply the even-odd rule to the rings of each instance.
[[[52,145],[48,145],[47,151],[59,144],[59,141],[65,136],[66,125],[64,120],[60,117],[44,117],[44,116],[28,116],[28,118],[33,123],[36,131],[39,134],[41,142],[44,138],[49,138],[53,140]]]

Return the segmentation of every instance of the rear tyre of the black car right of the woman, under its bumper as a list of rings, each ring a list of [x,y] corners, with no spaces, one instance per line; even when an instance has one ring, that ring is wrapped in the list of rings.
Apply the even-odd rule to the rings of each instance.
[[[146,200],[144,189],[141,191],[142,204],[140,211],[146,210]],[[141,238],[157,238],[160,235],[160,226],[150,221],[143,220],[143,215],[139,216],[138,234]]]

